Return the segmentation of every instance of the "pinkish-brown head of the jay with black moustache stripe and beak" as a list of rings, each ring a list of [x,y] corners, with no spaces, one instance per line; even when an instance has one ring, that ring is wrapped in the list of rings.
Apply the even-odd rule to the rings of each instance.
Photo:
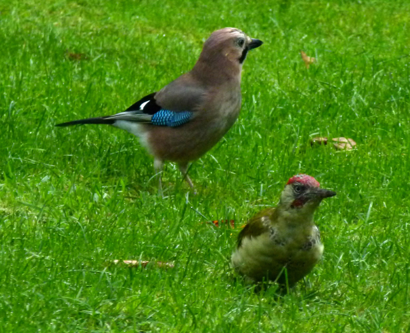
[[[223,28],[212,32],[205,41],[200,59],[218,61],[219,58],[228,59],[235,65],[241,65],[249,50],[262,45],[262,41],[246,36],[236,28]]]

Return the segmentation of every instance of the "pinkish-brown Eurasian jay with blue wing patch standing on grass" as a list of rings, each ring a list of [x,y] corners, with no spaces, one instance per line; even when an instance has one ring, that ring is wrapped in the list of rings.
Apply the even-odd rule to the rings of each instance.
[[[112,116],[64,122],[56,126],[109,124],[139,137],[154,156],[159,174],[164,161],[188,163],[210,150],[237,120],[241,109],[241,70],[249,50],[262,45],[235,28],[216,30],[205,41],[194,68],[160,91]]]

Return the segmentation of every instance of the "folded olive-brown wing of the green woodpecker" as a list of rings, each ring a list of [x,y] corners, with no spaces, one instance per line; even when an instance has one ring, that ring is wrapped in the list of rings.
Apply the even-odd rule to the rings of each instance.
[[[238,247],[241,246],[245,237],[257,237],[269,232],[269,227],[277,220],[276,213],[276,208],[266,208],[251,217],[238,235]]]

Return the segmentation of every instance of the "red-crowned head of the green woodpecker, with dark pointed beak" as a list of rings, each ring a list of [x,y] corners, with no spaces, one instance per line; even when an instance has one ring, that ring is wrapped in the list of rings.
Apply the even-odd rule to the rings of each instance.
[[[280,195],[279,204],[289,212],[313,213],[324,198],[336,192],[320,188],[319,182],[307,174],[297,174],[289,179]]]

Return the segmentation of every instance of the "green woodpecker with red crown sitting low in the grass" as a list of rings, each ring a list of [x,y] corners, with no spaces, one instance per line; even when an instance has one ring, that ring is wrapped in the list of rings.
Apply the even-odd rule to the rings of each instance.
[[[323,244],[313,214],[323,198],[336,195],[319,186],[307,174],[290,178],[278,206],[257,213],[241,230],[232,265],[247,280],[292,287],[316,265]]]

